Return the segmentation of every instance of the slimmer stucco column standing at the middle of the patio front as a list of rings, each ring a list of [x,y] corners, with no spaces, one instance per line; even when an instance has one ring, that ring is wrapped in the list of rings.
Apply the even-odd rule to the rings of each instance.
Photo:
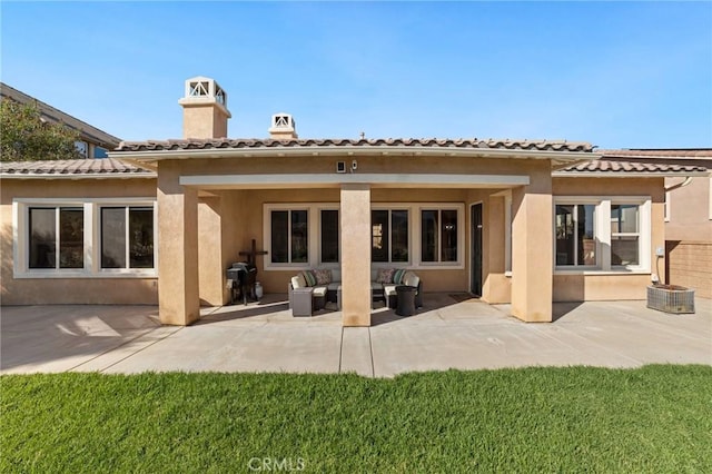
[[[342,186],[342,322],[370,326],[370,187]]]

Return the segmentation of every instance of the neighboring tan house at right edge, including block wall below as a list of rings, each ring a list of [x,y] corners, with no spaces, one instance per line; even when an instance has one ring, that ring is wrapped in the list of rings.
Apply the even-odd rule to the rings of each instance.
[[[712,148],[599,151],[602,160],[712,170]],[[712,177],[670,177],[665,189],[665,283],[712,298]]]

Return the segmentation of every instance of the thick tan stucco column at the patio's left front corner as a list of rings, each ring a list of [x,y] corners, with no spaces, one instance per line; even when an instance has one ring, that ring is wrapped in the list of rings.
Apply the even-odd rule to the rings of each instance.
[[[179,168],[158,168],[158,309],[162,324],[186,326],[200,317],[198,192],[179,185]]]

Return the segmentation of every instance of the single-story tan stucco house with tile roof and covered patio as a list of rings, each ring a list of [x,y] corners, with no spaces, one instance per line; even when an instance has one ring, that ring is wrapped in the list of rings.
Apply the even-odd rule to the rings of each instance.
[[[103,171],[2,166],[4,304],[158,303],[190,324],[228,302],[225,269],[255,240],[266,293],[339,268],[345,326],[370,325],[384,267],[550,322],[552,302],[643,299],[664,278],[665,180],[709,177],[586,142],[299,139],[288,113],[229,139],[227,96],[201,77],[179,103],[182,139],[122,142]]]

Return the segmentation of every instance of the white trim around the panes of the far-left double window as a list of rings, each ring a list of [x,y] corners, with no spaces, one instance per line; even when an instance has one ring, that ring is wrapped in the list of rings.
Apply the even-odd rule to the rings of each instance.
[[[29,268],[30,207],[83,208],[83,268]],[[154,208],[154,268],[107,269],[101,266],[99,207],[145,206]],[[156,198],[16,198],[12,200],[12,277],[23,278],[156,278],[158,277],[158,213]]]

